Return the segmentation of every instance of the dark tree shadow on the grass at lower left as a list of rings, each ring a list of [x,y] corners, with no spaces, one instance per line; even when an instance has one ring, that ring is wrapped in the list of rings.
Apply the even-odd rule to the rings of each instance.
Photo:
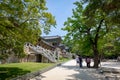
[[[11,78],[15,78],[26,73],[30,73],[30,71],[16,67],[0,67],[0,80],[10,80]]]

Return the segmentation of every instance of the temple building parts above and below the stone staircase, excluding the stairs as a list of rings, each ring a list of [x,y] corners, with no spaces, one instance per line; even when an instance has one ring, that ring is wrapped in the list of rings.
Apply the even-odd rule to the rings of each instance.
[[[62,39],[60,36],[43,36],[43,37],[39,37],[37,45],[41,46],[45,49],[48,49],[50,51],[57,50],[58,53],[56,55],[59,56],[59,54],[62,53],[61,49],[59,48],[61,40]],[[58,57],[57,57],[57,59],[58,59]],[[46,58],[40,54],[37,54],[36,61],[37,62],[45,62]],[[49,62],[49,60],[48,60],[48,62]]]

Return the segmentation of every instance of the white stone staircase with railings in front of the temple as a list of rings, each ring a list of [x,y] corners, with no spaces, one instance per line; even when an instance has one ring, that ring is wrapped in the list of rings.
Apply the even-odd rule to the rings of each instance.
[[[58,56],[56,56],[56,51],[50,51],[38,45],[34,46],[31,43],[25,43],[24,51],[27,54],[41,54],[51,62],[57,62],[56,58]]]

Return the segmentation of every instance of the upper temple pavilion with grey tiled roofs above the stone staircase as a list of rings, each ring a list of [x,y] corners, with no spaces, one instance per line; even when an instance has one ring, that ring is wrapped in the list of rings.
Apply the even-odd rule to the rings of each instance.
[[[62,55],[63,57],[66,55],[66,52],[69,51],[69,48],[66,47],[64,44],[61,43],[62,39],[60,36],[42,36],[38,39],[37,45],[42,46],[45,49],[49,49],[52,51],[57,50],[58,55]],[[42,55],[38,55],[39,57],[42,57]],[[40,60],[42,61],[42,60]]]

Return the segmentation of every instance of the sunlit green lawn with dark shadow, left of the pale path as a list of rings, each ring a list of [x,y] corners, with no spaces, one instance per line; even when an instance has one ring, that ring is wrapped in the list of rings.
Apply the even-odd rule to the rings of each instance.
[[[53,66],[55,63],[10,63],[0,64],[0,80],[9,80],[11,78],[24,75],[26,73],[42,70]]]

